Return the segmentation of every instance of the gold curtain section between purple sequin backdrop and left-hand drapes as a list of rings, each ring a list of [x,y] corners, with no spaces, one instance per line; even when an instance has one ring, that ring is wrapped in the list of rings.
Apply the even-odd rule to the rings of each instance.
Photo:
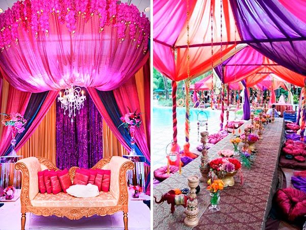
[[[23,158],[43,156],[56,164],[56,102],[53,103],[30,139],[18,154]]]

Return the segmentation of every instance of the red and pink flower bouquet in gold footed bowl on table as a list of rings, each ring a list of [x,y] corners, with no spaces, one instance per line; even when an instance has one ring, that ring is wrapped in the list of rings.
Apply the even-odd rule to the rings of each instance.
[[[233,176],[241,169],[241,163],[235,158],[220,157],[209,163],[211,172],[224,182],[224,187],[234,186]],[[212,176],[211,176],[212,177]]]

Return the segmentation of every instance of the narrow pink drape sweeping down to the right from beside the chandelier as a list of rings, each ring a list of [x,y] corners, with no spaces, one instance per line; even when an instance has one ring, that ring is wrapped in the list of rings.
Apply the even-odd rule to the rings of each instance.
[[[112,119],[110,118],[105,106],[103,105],[103,103],[101,102],[99,95],[97,94],[97,91],[95,88],[90,87],[87,88],[87,91],[91,97],[91,99],[93,100],[93,103],[95,104],[95,106],[97,107],[97,109],[99,110],[99,112],[101,113],[101,116],[103,117],[103,119],[105,120],[106,124],[110,127],[111,131],[114,133],[114,135],[117,137],[118,141],[121,143],[121,145],[127,150],[127,151],[131,151],[131,148],[125,143],[122,135],[120,134],[120,132],[118,131],[118,128],[114,125],[114,123],[112,122]]]

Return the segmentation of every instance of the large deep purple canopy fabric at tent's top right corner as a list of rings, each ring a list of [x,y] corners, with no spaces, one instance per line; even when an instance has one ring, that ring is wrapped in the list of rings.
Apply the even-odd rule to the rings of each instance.
[[[230,0],[240,36],[264,56],[306,75],[306,24],[278,0]],[[254,41],[254,42],[253,42]]]

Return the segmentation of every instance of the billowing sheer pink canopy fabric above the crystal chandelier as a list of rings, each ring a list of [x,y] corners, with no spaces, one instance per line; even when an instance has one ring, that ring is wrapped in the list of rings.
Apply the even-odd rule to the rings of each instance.
[[[5,79],[19,90],[39,93],[70,84],[112,90],[124,84],[149,56],[129,36],[118,39],[115,27],[99,33],[99,17],[77,17],[73,35],[57,16],[49,14],[49,35],[38,39],[18,27],[18,44],[0,55]],[[126,34],[129,34],[127,29]]]

